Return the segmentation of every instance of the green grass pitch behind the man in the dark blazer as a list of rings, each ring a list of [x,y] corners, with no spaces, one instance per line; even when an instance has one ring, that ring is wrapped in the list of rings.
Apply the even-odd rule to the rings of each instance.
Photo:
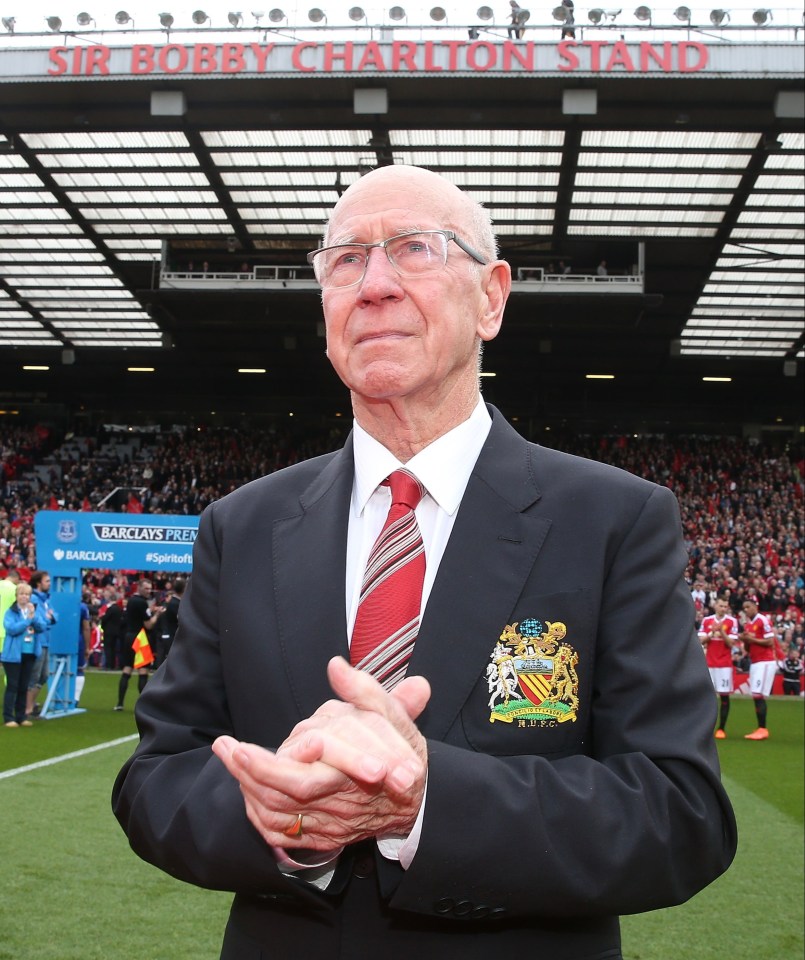
[[[132,685],[133,687],[133,685]],[[0,728],[0,772],[134,733],[130,689],[90,673],[84,714]],[[771,739],[754,743],[736,697],[719,742],[740,830],[733,867],[689,903],[625,917],[625,960],[802,960],[802,698],[769,703]],[[182,884],[140,861],[114,820],[112,781],[133,741],[0,778],[0,960],[216,960],[230,896]]]

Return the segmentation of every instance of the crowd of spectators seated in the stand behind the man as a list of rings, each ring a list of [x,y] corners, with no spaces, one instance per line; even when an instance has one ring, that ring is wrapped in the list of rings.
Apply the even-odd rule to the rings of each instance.
[[[59,437],[45,427],[0,434],[0,576],[36,568],[40,509],[199,514],[236,487],[335,449],[344,429],[101,430]],[[544,441],[543,441],[544,442]],[[733,612],[757,599],[785,652],[803,648],[805,563],[801,448],[736,437],[576,436],[557,446],[670,487],[679,501],[697,620],[725,596]],[[137,571],[91,571],[102,606]],[[165,578],[169,579],[169,578]],[[159,588],[160,584],[157,582]]]

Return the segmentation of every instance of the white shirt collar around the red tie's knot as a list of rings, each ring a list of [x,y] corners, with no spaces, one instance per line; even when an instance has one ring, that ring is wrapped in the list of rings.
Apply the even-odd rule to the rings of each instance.
[[[452,515],[461,503],[472,468],[491,427],[489,411],[479,398],[467,420],[403,464],[355,421],[355,485],[352,493],[355,515],[363,513],[369,498],[386,477],[403,467],[419,480],[442,510]]]

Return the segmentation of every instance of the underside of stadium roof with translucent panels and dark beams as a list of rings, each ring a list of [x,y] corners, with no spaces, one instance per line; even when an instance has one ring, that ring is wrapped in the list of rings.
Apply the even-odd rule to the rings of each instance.
[[[604,78],[587,121],[557,109],[562,78],[489,78],[479,100],[480,82],[375,81],[392,108],[369,117],[353,110],[353,78],[188,80],[197,109],[179,118],[149,115],[142,81],[76,81],[51,100],[53,84],[5,85],[0,346],[161,349],[183,329],[181,298],[160,298],[166,257],[236,250],[304,267],[346,187],[411,163],[485,204],[514,268],[564,255],[594,272],[625,250],[634,269],[642,245],[640,309],[593,304],[602,336],[617,314],[622,330],[654,310],[663,353],[802,357],[805,135],[775,118],[779,83],[666,79],[655,96],[659,81],[637,92]],[[589,331],[589,298],[556,310]]]

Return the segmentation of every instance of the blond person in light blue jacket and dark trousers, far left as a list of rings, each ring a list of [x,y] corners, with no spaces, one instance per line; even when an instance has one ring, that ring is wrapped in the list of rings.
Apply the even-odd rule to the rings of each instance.
[[[6,673],[3,723],[7,727],[30,727],[25,716],[25,695],[36,658],[42,652],[42,634],[47,629],[44,614],[31,600],[30,584],[20,583],[14,603],[6,610],[6,639],[0,660]]]

